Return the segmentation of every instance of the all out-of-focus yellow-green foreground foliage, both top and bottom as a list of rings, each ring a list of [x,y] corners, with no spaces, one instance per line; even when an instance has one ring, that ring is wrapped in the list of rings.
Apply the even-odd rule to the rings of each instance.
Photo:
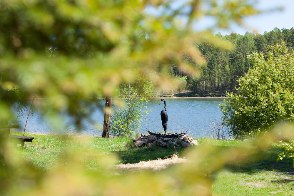
[[[187,1],[178,7],[173,3],[0,1],[0,120],[12,117],[10,100],[26,101],[37,92],[39,111],[56,122],[59,112],[69,113],[80,125],[97,97],[116,96],[121,83],[131,83],[139,75],[156,87],[171,87],[176,83],[165,73],[172,63],[197,74],[198,69],[182,61],[185,53],[200,65],[205,62],[192,44],[196,39],[206,37],[211,44],[230,48],[210,31],[197,31],[203,17],[213,17],[213,27],[226,28],[231,22],[242,25],[244,16],[258,13],[246,0]],[[156,9],[156,16],[147,14],[146,7]],[[12,88],[18,89],[17,96],[3,93]],[[153,195],[210,195],[211,180],[203,175],[211,167],[207,163],[218,170],[238,153],[230,149],[212,156],[207,147],[198,148],[187,155],[191,162],[158,175],[117,173],[109,167],[116,158],[106,154],[95,158],[100,170],[89,170],[81,164],[88,149],[69,146],[55,167],[43,172],[2,144],[1,195],[146,195],[138,189],[146,183]]]

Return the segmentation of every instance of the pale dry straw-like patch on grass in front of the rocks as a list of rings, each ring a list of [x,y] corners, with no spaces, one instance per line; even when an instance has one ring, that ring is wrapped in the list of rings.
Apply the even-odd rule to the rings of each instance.
[[[186,163],[187,160],[185,158],[178,158],[178,155],[173,154],[171,158],[161,159],[151,161],[140,161],[139,163],[133,164],[119,164],[116,165],[119,170],[141,170],[141,169],[150,169],[153,171],[166,169],[169,165],[177,164],[177,163]]]

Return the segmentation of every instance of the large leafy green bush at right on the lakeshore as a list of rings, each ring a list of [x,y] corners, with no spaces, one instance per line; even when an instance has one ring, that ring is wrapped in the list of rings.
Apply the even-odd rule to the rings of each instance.
[[[294,121],[294,54],[285,42],[269,46],[268,52],[248,56],[252,65],[238,79],[238,93],[227,93],[220,108],[225,124],[235,137],[260,135],[278,122]]]

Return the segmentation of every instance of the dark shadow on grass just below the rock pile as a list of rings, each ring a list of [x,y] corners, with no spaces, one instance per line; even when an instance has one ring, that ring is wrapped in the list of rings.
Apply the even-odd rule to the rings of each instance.
[[[182,147],[176,147],[176,151],[181,155],[184,151]],[[174,148],[162,148],[158,146],[142,148],[136,148],[134,146],[129,146],[125,150],[116,151],[119,156],[121,163],[139,163],[140,161],[156,160],[157,158],[163,159],[168,155],[173,155],[175,153]]]

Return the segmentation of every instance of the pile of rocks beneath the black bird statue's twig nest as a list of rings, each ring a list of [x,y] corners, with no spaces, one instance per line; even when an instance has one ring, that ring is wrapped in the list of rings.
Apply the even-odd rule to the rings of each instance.
[[[142,147],[147,145],[148,147],[152,147],[153,145],[173,148],[173,146],[198,146],[197,140],[190,138],[189,135],[183,135],[179,138],[163,138],[156,137],[156,135],[145,135],[141,133],[138,138],[133,138],[133,142],[135,142],[136,147]]]

